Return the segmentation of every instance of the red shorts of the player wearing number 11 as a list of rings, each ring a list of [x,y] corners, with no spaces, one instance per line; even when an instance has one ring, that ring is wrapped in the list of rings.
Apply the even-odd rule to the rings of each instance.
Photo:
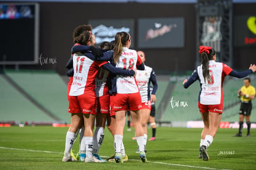
[[[79,96],[69,96],[69,113],[96,115],[96,94],[91,92]]]

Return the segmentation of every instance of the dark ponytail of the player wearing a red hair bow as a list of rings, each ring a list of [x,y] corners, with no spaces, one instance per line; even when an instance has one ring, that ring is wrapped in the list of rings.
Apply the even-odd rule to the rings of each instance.
[[[203,70],[203,79],[207,79],[208,81],[211,80],[211,76],[209,73],[209,60],[213,59],[213,55],[215,55],[214,49],[209,49],[209,54],[207,52],[202,52],[201,54],[201,63],[202,63],[202,70]]]

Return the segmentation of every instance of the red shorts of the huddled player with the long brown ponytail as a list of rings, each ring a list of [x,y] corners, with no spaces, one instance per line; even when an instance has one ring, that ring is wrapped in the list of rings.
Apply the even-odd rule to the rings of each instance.
[[[142,99],[140,92],[131,94],[114,94],[111,109],[118,110],[140,110],[142,108]]]

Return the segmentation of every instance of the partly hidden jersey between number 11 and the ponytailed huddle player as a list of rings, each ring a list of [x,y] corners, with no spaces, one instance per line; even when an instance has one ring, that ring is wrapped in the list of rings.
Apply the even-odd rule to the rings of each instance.
[[[98,74],[95,78],[96,81],[96,97],[101,97],[104,94],[108,94],[108,80],[109,71],[105,70],[104,68],[100,68],[100,71],[98,71]]]

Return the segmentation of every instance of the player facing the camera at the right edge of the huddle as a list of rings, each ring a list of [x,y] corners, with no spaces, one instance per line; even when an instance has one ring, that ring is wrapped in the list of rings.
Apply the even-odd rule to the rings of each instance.
[[[143,63],[146,60],[145,53],[143,51],[138,51],[140,59]],[[145,64],[145,63],[144,63]],[[139,87],[140,96],[142,98],[142,108],[140,114],[142,114],[142,128],[144,132],[144,146],[147,145],[148,138],[148,119],[150,117],[151,102],[156,102],[156,90],[158,84],[156,82],[155,71],[151,67],[145,65],[145,70],[137,70],[136,81]],[[153,84],[153,90],[150,95],[150,83]]]

